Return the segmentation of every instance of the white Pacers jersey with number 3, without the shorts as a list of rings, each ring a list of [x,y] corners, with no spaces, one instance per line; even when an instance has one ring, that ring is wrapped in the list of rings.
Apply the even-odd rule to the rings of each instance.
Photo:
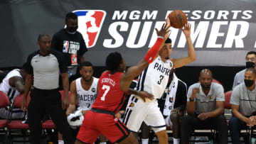
[[[173,63],[171,60],[163,62],[160,56],[156,57],[142,74],[139,75],[139,82],[136,89],[154,95],[154,99],[161,98],[166,89],[172,67]]]

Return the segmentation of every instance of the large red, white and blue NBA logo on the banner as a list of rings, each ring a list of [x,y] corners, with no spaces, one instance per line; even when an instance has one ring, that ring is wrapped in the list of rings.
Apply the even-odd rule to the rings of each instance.
[[[78,15],[78,31],[85,39],[87,48],[92,48],[97,42],[106,12],[102,10],[77,10],[73,13]]]

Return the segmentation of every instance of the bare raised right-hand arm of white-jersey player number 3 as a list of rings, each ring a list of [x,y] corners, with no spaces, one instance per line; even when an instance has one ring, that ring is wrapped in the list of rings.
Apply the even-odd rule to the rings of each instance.
[[[191,24],[186,23],[184,28],[182,29],[184,35],[186,36],[186,41],[188,43],[188,57],[181,57],[177,60],[173,59],[174,68],[183,67],[184,65],[188,65],[190,62],[196,60],[196,52],[195,48],[193,47],[193,43],[191,40]]]

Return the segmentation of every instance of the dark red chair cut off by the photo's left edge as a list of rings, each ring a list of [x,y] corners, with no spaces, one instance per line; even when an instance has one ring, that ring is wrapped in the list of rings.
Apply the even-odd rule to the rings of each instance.
[[[9,98],[6,94],[4,94],[4,92],[1,92],[0,91],[0,108],[5,108],[6,106],[9,106],[10,105],[10,101],[9,101]],[[7,143],[7,131],[6,131],[6,126],[7,126],[7,123],[8,121],[6,119],[1,119],[0,120],[0,130],[1,132],[5,133],[4,135],[4,141],[3,143]]]

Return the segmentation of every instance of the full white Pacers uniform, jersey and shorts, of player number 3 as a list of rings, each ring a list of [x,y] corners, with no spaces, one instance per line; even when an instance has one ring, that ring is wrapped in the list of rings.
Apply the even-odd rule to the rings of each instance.
[[[129,98],[123,122],[131,131],[139,131],[143,121],[146,125],[152,126],[155,133],[166,129],[164,116],[155,99],[164,94],[172,66],[171,60],[163,62],[159,56],[139,75],[136,89],[153,94],[154,100],[146,99],[148,102],[145,103],[136,95]]]

